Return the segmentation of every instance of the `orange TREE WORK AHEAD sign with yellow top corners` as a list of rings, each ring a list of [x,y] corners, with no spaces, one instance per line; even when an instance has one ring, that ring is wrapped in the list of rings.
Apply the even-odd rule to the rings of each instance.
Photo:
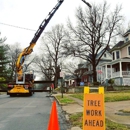
[[[98,94],[84,88],[83,130],[105,130],[104,89],[99,89]]]

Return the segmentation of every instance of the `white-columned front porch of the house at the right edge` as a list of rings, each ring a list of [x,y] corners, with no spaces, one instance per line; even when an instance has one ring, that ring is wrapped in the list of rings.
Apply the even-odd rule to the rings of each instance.
[[[101,65],[101,82],[115,79],[116,85],[130,85],[130,60],[129,58],[119,59],[111,63]]]

